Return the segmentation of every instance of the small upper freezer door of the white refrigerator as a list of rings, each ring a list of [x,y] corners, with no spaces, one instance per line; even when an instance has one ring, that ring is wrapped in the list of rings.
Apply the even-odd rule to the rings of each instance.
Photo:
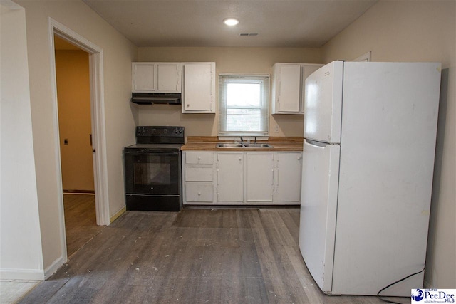
[[[306,79],[304,137],[341,142],[343,62],[333,61]]]

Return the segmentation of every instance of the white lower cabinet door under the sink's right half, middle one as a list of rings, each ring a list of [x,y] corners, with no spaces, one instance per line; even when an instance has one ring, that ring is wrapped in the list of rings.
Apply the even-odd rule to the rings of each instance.
[[[246,153],[246,201],[248,204],[271,204],[274,193],[273,152]]]

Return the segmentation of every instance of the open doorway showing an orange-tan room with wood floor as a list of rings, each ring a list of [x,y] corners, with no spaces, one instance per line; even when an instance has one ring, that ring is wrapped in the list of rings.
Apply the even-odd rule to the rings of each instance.
[[[67,255],[103,229],[96,221],[89,53],[54,35]]]

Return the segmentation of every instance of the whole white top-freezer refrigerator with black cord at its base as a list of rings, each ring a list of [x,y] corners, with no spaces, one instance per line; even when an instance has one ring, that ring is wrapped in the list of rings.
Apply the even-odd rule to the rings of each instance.
[[[324,293],[425,266],[440,63],[334,61],[306,79],[299,248]],[[380,295],[409,296],[424,273]]]

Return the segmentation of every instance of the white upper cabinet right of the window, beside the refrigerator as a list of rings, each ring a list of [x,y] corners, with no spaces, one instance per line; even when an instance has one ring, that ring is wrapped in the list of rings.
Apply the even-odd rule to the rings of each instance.
[[[321,66],[310,63],[274,64],[272,114],[304,114],[304,80]]]

